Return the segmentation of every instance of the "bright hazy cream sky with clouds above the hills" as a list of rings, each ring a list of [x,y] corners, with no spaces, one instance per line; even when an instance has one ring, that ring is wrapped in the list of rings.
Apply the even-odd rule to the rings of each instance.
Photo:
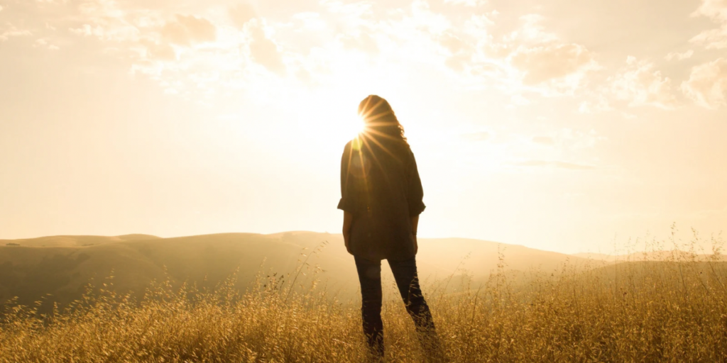
[[[0,0],[0,238],[339,233],[368,94],[422,236],[727,226],[727,0]]]

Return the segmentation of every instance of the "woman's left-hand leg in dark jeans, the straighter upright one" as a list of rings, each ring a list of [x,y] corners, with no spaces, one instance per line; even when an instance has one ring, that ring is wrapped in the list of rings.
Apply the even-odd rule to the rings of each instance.
[[[354,256],[361,282],[361,319],[371,353],[384,355],[384,323],[381,321],[381,261]]]

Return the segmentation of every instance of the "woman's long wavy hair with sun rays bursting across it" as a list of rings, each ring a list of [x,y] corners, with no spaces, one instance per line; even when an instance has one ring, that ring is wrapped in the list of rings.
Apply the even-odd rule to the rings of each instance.
[[[364,119],[366,130],[364,137],[374,137],[379,140],[393,140],[403,142],[406,146],[404,128],[399,123],[394,110],[386,99],[376,95],[366,97],[358,104],[358,115]]]

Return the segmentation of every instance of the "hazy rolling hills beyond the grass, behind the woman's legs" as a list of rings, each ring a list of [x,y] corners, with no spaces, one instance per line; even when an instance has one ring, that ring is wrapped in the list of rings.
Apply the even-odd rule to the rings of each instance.
[[[310,255],[316,248],[321,249]],[[507,269],[518,271],[551,271],[566,261],[587,262],[562,253],[483,240],[421,239],[419,276],[427,284],[466,270],[475,279],[483,279],[497,268],[499,256],[504,256]],[[176,238],[130,234],[1,240],[0,303],[17,296],[20,303],[28,304],[47,294],[52,294],[49,301],[68,303],[80,297],[90,280],[111,276],[109,281],[116,290],[141,294],[151,280],[166,278],[174,286],[190,282],[213,287],[237,270],[244,287],[260,273],[276,273],[278,277],[294,274],[305,258],[308,267],[302,270],[297,284],[310,282],[317,265],[321,269],[319,285],[331,293],[358,289],[353,256],[343,247],[340,234],[228,233]],[[390,278],[387,266],[383,271],[385,278]]]

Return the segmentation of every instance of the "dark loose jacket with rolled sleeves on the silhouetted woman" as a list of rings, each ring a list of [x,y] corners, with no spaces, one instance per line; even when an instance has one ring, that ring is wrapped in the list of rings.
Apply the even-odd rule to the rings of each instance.
[[[411,217],[425,209],[417,160],[402,141],[377,138],[346,144],[338,208],[353,213],[350,248],[370,260],[414,256]]]

